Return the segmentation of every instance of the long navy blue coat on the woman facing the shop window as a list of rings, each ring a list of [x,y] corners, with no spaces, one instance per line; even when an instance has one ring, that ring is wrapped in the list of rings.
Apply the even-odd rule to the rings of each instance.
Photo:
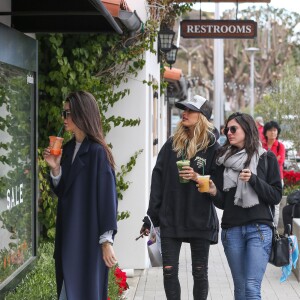
[[[58,196],[55,267],[57,292],[68,300],[106,300],[108,268],[99,237],[117,231],[116,180],[104,148],[85,139],[73,161],[75,140],[63,149]]]

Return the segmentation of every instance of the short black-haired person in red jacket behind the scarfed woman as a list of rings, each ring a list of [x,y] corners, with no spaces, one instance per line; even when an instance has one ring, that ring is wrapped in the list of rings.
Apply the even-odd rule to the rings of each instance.
[[[264,126],[263,134],[265,137],[265,143],[263,147],[266,150],[271,150],[277,157],[279,164],[281,183],[283,187],[283,165],[285,161],[285,147],[283,143],[278,141],[281,128],[276,121],[267,122]],[[274,223],[277,226],[279,221],[279,206],[275,205]]]

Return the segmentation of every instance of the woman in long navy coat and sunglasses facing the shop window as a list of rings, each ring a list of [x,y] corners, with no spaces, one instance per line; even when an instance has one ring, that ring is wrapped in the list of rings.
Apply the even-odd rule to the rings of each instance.
[[[92,94],[69,94],[62,116],[74,138],[61,155],[44,150],[58,196],[57,293],[60,300],[106,300],[108,268],[117,262],[112,247],[117,232],[114,160]]]

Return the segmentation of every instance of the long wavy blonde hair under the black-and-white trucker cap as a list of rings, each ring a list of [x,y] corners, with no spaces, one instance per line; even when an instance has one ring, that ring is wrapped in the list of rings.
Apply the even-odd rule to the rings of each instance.
[[[182,125],[182,121],[179,122],[173,137],[173,151],[177,157],[191,159],[198,151],[206,150],[212,144],[212,139],[216,141],[213,130],[214,125],[202,113],[199,113],[192,138],[189,137],[188,128]]]

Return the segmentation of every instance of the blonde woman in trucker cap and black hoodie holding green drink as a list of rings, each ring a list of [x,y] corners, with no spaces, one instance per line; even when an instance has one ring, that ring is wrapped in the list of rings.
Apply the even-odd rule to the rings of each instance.
[[[177,130],[159,152],[152,173],[149,208],[154,226],[160,227],[164,287],[167,299],[180,299],[178,261],[181,244],[190,243],[194,276],[194,299],[206,299],[208,294],[208,252],[210,244],[218,242],[219,223],[209,195],[199,194],[195,182],[197,173],[212,174],[219,147],[209,102],[201,96],[177,103],[183,109]],[[176,162],[189,160],[178,174]],[[189,180],[180,183],[179,176]],[[144,219],[141,233],[149,234],[149,220]]]

